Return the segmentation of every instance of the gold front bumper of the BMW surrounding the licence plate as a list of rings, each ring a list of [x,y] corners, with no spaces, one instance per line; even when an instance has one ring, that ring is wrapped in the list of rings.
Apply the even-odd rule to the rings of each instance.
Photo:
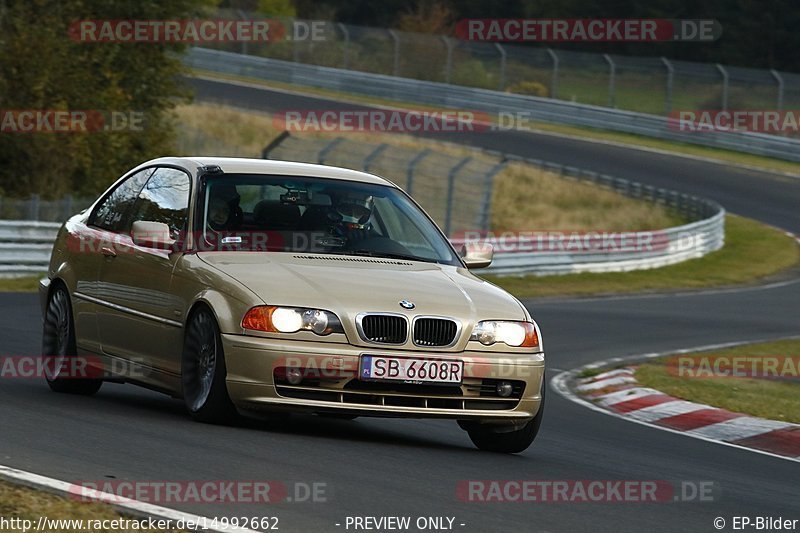
[[[242,410],[346,413],[359,416],[451,418],[519,425],[541,404],[544,353],[481,351],[426,352],[366,348],[244,335],[223,335],[227,386]],[[459,385],[361,381],[361,356],[395,355],[464,361]],[[298,368],[303,381],[292,385],[281,369]],[[513,383],[500,397],[499,381]]]

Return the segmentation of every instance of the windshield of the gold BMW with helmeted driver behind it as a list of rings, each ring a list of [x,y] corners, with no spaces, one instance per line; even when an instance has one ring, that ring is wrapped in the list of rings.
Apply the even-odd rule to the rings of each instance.
[[[206,251],[342,254],[461,266],[430,219],[400,190],[326,178],[210,177],[198,246]]]

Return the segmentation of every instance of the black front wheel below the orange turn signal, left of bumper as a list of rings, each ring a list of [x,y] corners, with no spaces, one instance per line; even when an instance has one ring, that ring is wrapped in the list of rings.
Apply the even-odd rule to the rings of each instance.
[[[186,324],[181,356],[183,401],[192,418],[207,424],[231,424],[238,419],[226,375],[219,326],[211,311],[201,307]]]

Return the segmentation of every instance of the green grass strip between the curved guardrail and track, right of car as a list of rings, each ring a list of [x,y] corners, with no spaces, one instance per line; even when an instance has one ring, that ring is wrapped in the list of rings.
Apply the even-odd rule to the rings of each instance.
[[[800,264],[800,248],[784,232],[728,215],[725,246],[699,259],[651,270],[560,276],[485,276],[517,297],[701,289],[755,282]]]

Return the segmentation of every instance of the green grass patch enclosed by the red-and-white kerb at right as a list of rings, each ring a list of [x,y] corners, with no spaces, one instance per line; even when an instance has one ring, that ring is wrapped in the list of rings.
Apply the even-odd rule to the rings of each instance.
[[[755,358],[791,356],[797,358],[800,357],[800,340],[751,344],[692,355]],[[678,377],[675,370],[677,366],[674,366],[678,364],[677,361],[674,361],[677,357],[687,357],[687,355],[671,356],[640,365],[636,370],[636,379],[646,387],[652,387],[684,400],[705,403],[762,418],[800,423],[800,376],[794,374],[793,379],[784,380],[743,377]],[[748,367],[750,364],[747,363]],[[780,367],[782,367],[782,363],[779,365]]]

